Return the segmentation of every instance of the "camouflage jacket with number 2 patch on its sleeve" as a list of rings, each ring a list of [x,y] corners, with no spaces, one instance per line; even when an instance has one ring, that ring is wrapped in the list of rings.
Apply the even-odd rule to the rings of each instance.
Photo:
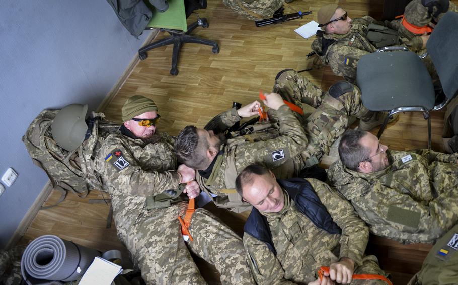
[[[278,179],[290,178],[302,169],[303,159],[300,153],[307,147],[307,137],[303,127],[289,109],[281,106],[276,112],[279,122],[279,136],[268,140],[250,142],[248,139],[232,144],[231,140],[222,145],[222,153],[212,169],[208,179],[196,175],[200,188],[213,197],[218,207],[230,208],[235,212],[251,209],[235,191],[235,180],[240,171],[250,164],[261,164],[274,169]],[[272,116],[271,116],[272,117]],[[225,131],[241,118],[235,108],[221,113],[206,126],[207,130]]]

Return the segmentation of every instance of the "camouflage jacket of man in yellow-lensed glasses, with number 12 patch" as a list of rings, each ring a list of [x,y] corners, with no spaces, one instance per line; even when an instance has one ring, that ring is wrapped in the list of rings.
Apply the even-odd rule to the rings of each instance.
[[[145,211],[146,196],[176,189],[175,137],[165,133],[160,143],[144,143],[121,133],[108,136],[97,153],[94,169],[108,186],[118,235],[123,238]]]

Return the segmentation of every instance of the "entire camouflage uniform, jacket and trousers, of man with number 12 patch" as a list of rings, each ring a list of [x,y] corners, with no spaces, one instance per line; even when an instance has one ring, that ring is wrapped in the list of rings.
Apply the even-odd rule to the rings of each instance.
[[[122,134],[106,138],[94,168],[108,185],[118,236],[148,284],[204,284],[189,250],[214,264],[222,283],[252,282],[242,240],[204,209],[192,217],[194,241],[185,243],[177,219],[180,208],[147,210],[146,196],[176,189],[180,183],[173,153],[175,138],[144,143]],[[118,162],[116,164],[116,162]]]

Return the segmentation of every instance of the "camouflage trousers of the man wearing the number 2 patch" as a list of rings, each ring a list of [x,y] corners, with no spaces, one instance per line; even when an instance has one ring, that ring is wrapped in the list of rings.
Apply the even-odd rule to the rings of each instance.
[[[358,87],[353,86],[351,92],[334,98],[294,70],[281,73],[273,90],[304,110],[305,116],[299,118],[309,140],[302,153],[304,160],[312,156],[320,160],[323,154],[328,154],[334,141],[348,128],[350,116],[367,121],[374,115],[362,105]],[[314,112],[306,114],[311,108]]]

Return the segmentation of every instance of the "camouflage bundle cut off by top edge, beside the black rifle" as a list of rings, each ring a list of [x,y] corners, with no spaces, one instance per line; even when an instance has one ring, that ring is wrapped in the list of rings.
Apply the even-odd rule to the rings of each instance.
[[[222,3],[250,20],[261,20],[271,18],[284,0],[222,0]]]

